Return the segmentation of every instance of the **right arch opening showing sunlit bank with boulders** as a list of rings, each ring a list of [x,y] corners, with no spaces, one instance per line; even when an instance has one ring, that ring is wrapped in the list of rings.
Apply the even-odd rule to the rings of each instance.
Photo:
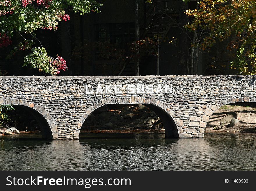
[[[256,133],[256,103],[234,102],[220,106],[209,117],[205,132]]]

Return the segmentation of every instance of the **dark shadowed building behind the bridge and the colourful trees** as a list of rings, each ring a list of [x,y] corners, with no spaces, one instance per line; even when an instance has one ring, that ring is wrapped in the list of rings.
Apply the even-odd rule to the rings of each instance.
[[[198,49],[191,54],[193,33],[184,30],[189,17],[186,9],[195,9],[197,1],[185,4],[182,0],[138,0],[138,17],[135,0],[105,0],[100,13],[88,15],[70,13],[70,21],[61,22],[57,31],[38,30],[37,36],[50,56],[62,56],[69,69],[60,75],[102,76],[134,75],[131,43],[136,39],[136,19],[139,39],[151,38],[159,55],[140,58],[140,75],[206,74],[210,56]],[[17,34],[13,42],[21,41]],[[44,75],[36,69],[22,67],[26,52],[18,52],[5,60],[8,49],[0,53],[1,70],[9,75]],[[127,58],[129,57],[129,58]],[[159,70],[158,70],[159,67]]]

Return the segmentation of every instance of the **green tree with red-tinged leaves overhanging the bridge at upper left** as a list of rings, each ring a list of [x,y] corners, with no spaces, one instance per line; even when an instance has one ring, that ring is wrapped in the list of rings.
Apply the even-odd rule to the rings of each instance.
[[[30,50],[24,58],[24,65],[38,68],[47,74],[57,75],[67,69],[66,61],[61,56],[53,58],[35,36],[35,31],[57,30],[61,21],[70,16],[65,10],[72,9],[84,15],[90,11],[97,12],[100,6],[95,0],[2,0],[0,2],[0,48],[12,43],[11,38],[18,33],[23,39],[11,55],[17,51]],[[40,47],[35,47],[35,42]]]

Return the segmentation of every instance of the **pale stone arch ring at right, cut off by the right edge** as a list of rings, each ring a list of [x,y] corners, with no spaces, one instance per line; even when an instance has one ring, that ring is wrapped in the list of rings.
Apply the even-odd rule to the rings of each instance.
[[[205,127],[213,115],[213,113],[218,110],[221,106],[228,105],[230,103],[253,103],[256,102],[256,97],[250,96],[250,97],[237,97],[237,98],[228,98],[228,99],[222,99],[219,100],[216,104],[209,105],[204,112],[204,115],[202,116],[202,119],[199,123],[199,134],[201,134],[201,137],[204,137],[205,133]]]

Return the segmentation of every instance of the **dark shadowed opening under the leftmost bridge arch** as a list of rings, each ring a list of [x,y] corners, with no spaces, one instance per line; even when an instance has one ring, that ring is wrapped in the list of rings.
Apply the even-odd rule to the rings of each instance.
[[[3,125],[5,129],[15,127],[21,133],[41,133],[43,139],[52,139],[49,123],[40,112],[26,105],[12,106],[14,110],[7,112],[10,120]]]

